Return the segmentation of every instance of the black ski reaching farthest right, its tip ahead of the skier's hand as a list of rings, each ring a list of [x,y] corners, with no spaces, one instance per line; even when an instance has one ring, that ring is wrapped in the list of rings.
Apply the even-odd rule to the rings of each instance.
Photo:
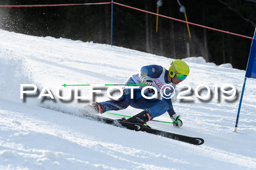
[[[191,143],[193,145],[202,145],[204,143],[204,139],[202,139],[202,138],[188,137],[188,136],[174,134],[174,133],[161,131],[161,130],[157,130],[157,129],[151,129],[148,127],[143,127],[142,131],[146,132],[146,133],[150,133],[150,134],[161,135],[162,137],[175,139],[177,141]]]

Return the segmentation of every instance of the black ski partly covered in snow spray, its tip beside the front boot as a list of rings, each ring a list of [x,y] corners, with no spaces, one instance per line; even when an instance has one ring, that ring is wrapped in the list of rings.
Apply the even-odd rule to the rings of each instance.
[[[123,127],[126,127],[129,130],[141,131],[143,129],[143,125],[139,124],[139,123],[129,123],[129,122],[125,122],[122,120],[109,119],[109,118],[105,118],[103,116],[98,116],[95,114],[85,114],[85,116],[93,118],[95,120],[99,120],[99,121],[107,123],[107,124],[113,124],[118,127],[120,127],[119,125],[121,125]]]

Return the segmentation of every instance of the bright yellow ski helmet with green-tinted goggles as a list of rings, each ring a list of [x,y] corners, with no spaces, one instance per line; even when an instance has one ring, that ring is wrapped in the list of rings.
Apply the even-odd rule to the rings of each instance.
[[[171,78],[174,78],[175,75],[179,80],[184,80],[185,78],[187,78],[189,74],[189,67],[187,63],[178,59],[173,60],[170,65],[171,66],[169,68],[169,75]]]

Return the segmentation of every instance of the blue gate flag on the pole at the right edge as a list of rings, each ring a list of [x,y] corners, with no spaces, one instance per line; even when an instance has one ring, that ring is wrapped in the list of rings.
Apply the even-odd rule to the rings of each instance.
[[[252,40],[252,46],[249,54],[249,59],[246,67],[245,77],[256,79],[256,33]]]

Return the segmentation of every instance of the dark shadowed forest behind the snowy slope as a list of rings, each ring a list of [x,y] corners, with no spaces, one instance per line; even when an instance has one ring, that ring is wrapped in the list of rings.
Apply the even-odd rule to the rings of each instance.
[[[114,0],[117,3],[157,12],[157,0]],[[2,0],[0,5],[74,4],[110,0]],[[177,0],[162,0],[159,14],[185,20]],[[180,0],[188,21],[253,37],[256,2],[249,0]],[[113,45],[168,58],[203,56],[219,65],[231,63],[245,70],[251,39],[187,25],[178,21],[114,4]],[[110,44],[111,4],[60,7],[0,8],[0,28],[34,36],[63,37],[72,40]],[[189,50],[188,50],[189,49]]]

